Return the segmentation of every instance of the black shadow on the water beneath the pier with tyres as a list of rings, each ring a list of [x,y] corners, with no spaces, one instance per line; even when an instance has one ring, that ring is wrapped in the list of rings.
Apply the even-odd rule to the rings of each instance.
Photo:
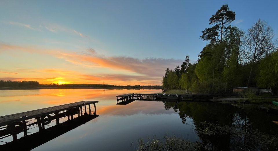
[[[83,115],[0,146],[0,150],[32,150],[60,135],[91,121],[99,115]]]

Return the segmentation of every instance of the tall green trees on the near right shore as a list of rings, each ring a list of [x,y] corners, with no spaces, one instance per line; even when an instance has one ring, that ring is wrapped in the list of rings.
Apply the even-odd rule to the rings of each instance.
[[[211,16],[200,38],[208,41],[198,60],[189,56],[174,71],[166,69],[162,86],[186,93],[231,93],[234,87],[278,88],[278,49],[273,29],[258,19],[248,31],[231,26],[235,12],[228,5]]]

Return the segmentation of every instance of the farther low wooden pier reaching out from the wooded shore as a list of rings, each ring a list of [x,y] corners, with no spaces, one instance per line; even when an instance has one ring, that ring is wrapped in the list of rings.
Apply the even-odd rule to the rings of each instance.
[[[169,94],[166,94],[167,96]],[[146,93],[129,93],[123,95],[117,95],[117,104],[118,105],[126,105],[135,100],[145,100],[145,101],[168,101],[168,102],[177,102],[177,101],[208,101],[211,102],[210,99],[214,97],[238,97],[238,94],[177,94],[176,99],[161,99],[160,96],[162,94],[146,94]]]

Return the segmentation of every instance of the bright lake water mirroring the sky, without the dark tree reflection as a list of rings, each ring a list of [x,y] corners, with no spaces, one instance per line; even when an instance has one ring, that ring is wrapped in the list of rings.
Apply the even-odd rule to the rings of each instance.
[[[93,119],[34,150],[135,150],[140,138],[166,134],[198,141],[192,119],[181,122],[163,102],[134,101],[116,105],[116,95],[161,93],[161,89],[0,90],[0,116],[84,100],[98,100]],[[131,143],[134,143],[131,146]],[[88,145],[89,144],[89,145]],[[97,148],[95,148],[97,147]]]

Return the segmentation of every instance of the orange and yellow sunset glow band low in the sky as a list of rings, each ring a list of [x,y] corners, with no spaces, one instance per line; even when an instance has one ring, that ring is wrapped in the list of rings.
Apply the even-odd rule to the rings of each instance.
[[[0,43],[2,56],[14,60],[1,68],[0,78],[40,84],[161,85],[164,70],[180,61],[107,57],[93,49],[67,51]],[[23,61],[20,56],[30,59]]]

